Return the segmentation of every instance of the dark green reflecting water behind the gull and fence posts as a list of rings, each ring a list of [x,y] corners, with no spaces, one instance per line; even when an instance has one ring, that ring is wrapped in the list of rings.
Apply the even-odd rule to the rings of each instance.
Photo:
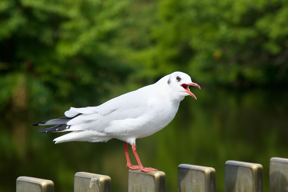
[[[264,167],[264,192],[269,191],[269,159],[288,158],[288,92],[277,90],[193,90],[198,100],[186,97],[175,119],[163,130],[137,140],[146,167],[166,173],[166,191],[177,191],[177,166],[194,164],[216,169],[216,190],[224,191],[227,160]],[[63,111],[64,112],[64,111]],[[123,142],[68,142],[54,144],[59,133],[37,134],[37,116],[8,122],[0,129],[0,191],[15,191],[18,176],[54,181],[55,191],[73,191],[76,172],[109,175],[112,191],[127,191],[128,168]],[[130,150],[130,156],[132,151]],[[134,158],[132,164],[136,164]]]

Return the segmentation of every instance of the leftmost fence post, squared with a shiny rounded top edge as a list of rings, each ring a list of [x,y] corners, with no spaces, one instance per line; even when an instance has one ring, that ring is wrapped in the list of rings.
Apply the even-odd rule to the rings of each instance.
[[[16,192],[54,192],[51,180],[20,176],[16,180]]]

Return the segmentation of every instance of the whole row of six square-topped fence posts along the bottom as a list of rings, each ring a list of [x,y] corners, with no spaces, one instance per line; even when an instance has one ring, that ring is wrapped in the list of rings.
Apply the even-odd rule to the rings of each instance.
[[[260,192],[263,167],[260,164],[241,161],[226,161],[226,192]],[[288,191],[288,159],[273,157],[270,159],[269,188],[274,191]],[[53,192],[51,180],[20,176],[16,180],[16,192]],[[105,175],[77,172],[74,176],[74,192],[111,192],[111,178]],[[141,172],[129,170],[129,192],[165,191],[165,173],[162,171]],[[178,166],[178,192],[215,191],[215,169],[196,165]]]

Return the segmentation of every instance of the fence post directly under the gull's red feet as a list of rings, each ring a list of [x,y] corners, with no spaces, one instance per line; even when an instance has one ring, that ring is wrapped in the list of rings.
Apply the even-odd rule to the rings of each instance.
[[[149,171],[147,173],[139,170],[128,172],[128,192],[164,192],[165,173],[162,171]]]

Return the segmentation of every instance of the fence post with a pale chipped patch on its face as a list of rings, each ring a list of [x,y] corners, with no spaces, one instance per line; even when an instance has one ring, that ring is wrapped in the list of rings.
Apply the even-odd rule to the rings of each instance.
[[[111,192],[111,178],[106,175],[77,172],[74,175],[74,192]]]

